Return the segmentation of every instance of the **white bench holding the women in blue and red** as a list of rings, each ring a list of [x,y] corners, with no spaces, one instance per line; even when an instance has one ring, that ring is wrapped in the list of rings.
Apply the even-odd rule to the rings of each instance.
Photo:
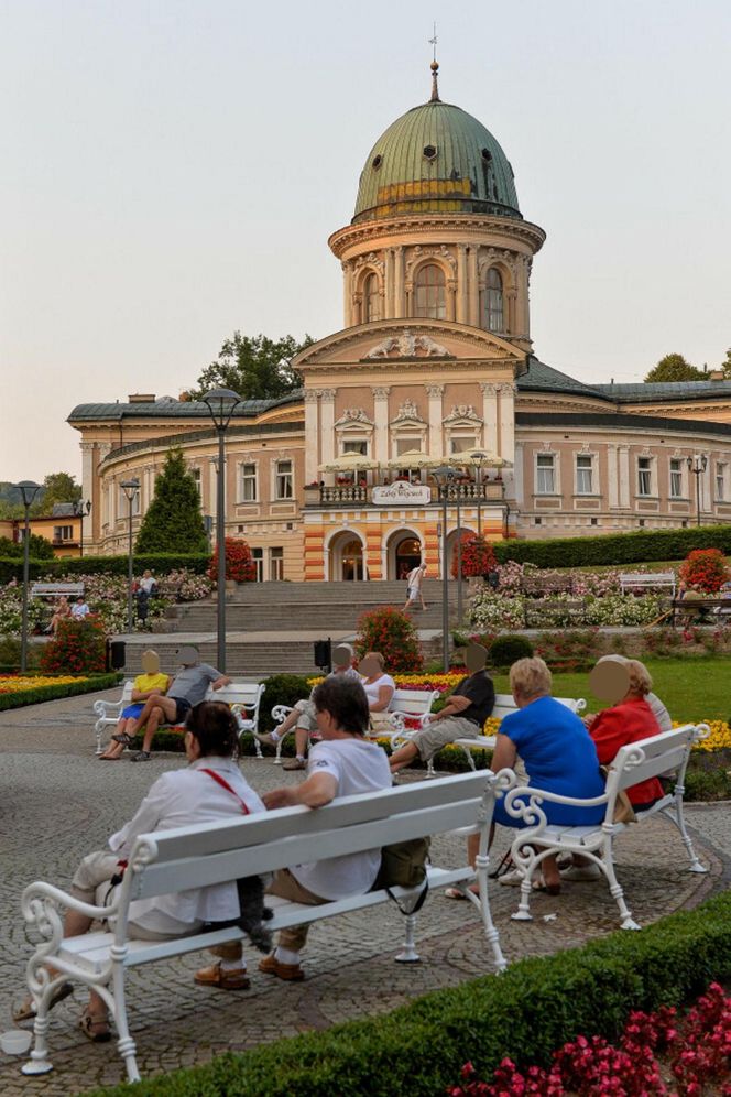
[[[593,800],[574,800],[569,796],[559,796],[533,785],[512,789],[505,796],[505,811],[509,815],[516,819],[523,819],[525,823],[525,828],[520,830],[511,847],[513,861],[523,873],[521,901],[512,917],[517,921],[531,919],[532,877],[542,861],[550,854],[570,852],[579,854],[592,865],[599,866],[620,909],[622,928],[640,928],[628,910],[622,887],[614,872],[612,848],[614,838],[630,825],[614,822],[614,805],[620,791],[647,781],[650,778],[675,774],[674,789],[647,811],[637,813],[637,823],[643,823],[655,815],[666,815],[680,832],[690,858],[690,871],[707,872],[708,869],[703,868],[699,861],[686,829],[683,815],[683,795],[690,748],[709,734],[710,728],[706,724],[686,724],[672,731],[663,731],[661,735],[622,747],[609,768],[604,794]],[[542,807],[544,803],[569,804],[577,807],[593,807],[605,804],[605,812],[603,821],[592,826],[549,825]]]

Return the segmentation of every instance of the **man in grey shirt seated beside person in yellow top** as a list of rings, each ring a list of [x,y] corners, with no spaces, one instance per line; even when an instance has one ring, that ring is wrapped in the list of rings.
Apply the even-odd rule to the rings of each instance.
[[[150,760],[152,739],[161,724],[184,724],[190,709],[205,698],[208,686],[220,689],[231,681],[209,663],[201,663],[198,649],[193,644],[181,648],[178,658],[183,670],[175,675],[167,693],[151,694],[131,729],[112,736],[117,742],[123,742],[129,747],[134,736],[146,724],[142,750],[132,756],[133,762]]]

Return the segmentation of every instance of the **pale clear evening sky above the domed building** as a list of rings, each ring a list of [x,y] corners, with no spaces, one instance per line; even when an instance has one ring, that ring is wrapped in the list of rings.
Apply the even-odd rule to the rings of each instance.
[[[327,238],[439,90],[512,162],[534,350],[585,381],[731,346],[728,0],[0,0],[0,480],[77,403],[178,395],[234,330],[342,325]]]

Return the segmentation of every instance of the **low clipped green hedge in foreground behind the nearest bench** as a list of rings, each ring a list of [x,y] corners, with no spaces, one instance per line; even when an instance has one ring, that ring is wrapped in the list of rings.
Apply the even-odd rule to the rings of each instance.
[[[680,1006],[714,979],[731,978],[730,930],[725,892],[642,933],[620,930],[582,948],[520,960],[502,976],[425,995],[385,1017],[94,1094],[434,1097],[457,1084],[468,1060],[480,1077],[505,1055],[519,1066],[547,1065],[554,1050],[579,1033],[613,1039],[632,1009]]]

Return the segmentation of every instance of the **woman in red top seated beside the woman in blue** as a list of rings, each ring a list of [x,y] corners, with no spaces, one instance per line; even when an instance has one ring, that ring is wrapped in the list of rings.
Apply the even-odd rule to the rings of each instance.
[[[630,675],[630,688],[624,697],[612,708],[599,713],[588,724],[589,735],[596,743],[601,765],[613,762],[620,747],[659,735],[659,725],[645,700],[653,687],[647,669],[636,659],[629,659],[625,666]],[[626,793],[632,806],[639,810],[651,807],[664,795],[657,778],[633,784]]]

